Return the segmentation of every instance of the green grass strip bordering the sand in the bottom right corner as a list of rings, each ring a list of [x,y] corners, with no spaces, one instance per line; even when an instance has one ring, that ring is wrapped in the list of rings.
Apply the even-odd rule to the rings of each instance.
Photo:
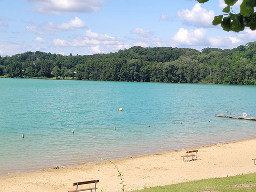
[[[256,173],[149,187],[134,192],[256,192]]]

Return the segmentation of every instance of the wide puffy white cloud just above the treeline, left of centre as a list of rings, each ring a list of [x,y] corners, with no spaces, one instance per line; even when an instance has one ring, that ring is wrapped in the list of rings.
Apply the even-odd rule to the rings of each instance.
[[[59,47],[88,47],[88,51],[90,53],[103,53],[103,49],[107,49],[109,52],[112,52],[129,47],[124,44],[119,36],[114,38],[107,34],[92,32],[91,30],[85,31],[84,36],[75,36],[71,42],[54,39],[53,45]]]

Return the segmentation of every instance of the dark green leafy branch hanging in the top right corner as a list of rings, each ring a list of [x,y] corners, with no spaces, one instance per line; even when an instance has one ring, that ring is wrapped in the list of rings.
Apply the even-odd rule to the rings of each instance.
[[[199,3],[205,3],[209,0],[197,0]],[[224,0],[227,5],[222,11],[224,14],[215,16],[213,25],[221,24],[224,31],[241,32],[245,27],[256,30],[256,0],[243,0],[240,5],[240,12],[236,14],[232,11],[232,6],[238,0]]]

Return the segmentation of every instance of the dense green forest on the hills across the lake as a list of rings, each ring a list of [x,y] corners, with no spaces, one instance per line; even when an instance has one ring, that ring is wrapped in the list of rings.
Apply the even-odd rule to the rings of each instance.
[[[131,47],[117,53],[61,55],[26,52],[0,56],[0,76],[56,77],[99,81],[142,81],[256,85],[256,42],[234,49]]]

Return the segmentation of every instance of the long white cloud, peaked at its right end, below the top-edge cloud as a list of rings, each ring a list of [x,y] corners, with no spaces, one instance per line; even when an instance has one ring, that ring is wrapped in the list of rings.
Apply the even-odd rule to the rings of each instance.
[[[51,34],[51,31],[61,32],[85,28],[87,28],[85,22],[78,17],[75,17],[74,20],[70,20],[67,23],[62,24],[54,24],[52,21],[47,21],[42,25],[31,23],[26,27],[28,31],[38,35],[49,35]]]

